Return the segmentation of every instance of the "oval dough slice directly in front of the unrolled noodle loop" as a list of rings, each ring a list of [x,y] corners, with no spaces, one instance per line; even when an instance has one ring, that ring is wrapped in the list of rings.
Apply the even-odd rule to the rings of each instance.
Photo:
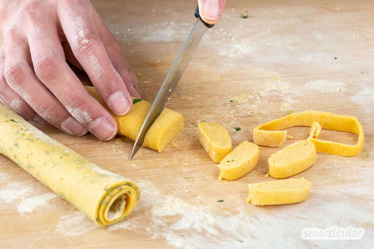
[[[309,168],[316,162],[316,148],[311,141],[293,143],[269,158],[269,174],[286,178]]]

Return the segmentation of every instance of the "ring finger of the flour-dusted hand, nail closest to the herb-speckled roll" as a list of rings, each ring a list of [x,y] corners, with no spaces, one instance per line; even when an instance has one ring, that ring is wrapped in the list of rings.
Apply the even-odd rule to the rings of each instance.
[[[6,50],[4,65],[4,78],[9,87],[50,124],[74,136],[85,134],[86,129],[36,77],[28,64],[30,53],[26,47],[14,38],[7,42],[12,42],[12,47]],[[27,112],[33,113],[31,110]],[[27,116],[26,113],[23,115]]]

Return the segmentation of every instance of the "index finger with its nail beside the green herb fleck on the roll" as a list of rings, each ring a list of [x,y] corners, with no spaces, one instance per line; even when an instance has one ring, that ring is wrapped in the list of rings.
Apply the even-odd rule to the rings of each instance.
[[[69,6],[67,9],[79,8]],[[93,13],[92,7],[91,12]],[[79,13],[79,10],[76,10],[67,15],[59,11],[58,15],[74,56],[85,69],[102,99],[116,115],[125,115],[132,108],[130,93],[105,51],[92,13]]]

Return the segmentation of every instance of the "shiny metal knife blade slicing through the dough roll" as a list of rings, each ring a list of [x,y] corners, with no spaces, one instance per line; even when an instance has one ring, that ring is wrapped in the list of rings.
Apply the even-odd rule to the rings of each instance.
[[[193,25],[187,40],[184,42],[181,51],[174,61],[174,64],[171,66],[171,69],[166,76],[159,93],[157,93],[156,99],[154,99],[147,117],[145,117],[143,126],[140,129],[140,133],[135,141],[134,148],[132,149],[130,160],[138,152],[143,144],[144,137],[148,129],[165,108],[166,103],[168,103],[171,94],[173,93],[175,87],[177,87],[178,81],[182,77],[188,62],[190,62],[190,59],[199,45],[201,38],[203,38],[206,29],[208,29],[206,25],[201,21],[200,18],[197,18],[197,21]]]

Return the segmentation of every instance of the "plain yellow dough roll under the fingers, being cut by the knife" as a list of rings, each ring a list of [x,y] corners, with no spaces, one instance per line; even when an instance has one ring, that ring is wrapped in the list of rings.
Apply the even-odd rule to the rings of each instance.
[[[151,108],[151,103],[141,100],[132,106],[130,113],[117,116],[105,105],[94,87],[86,87],[86,90],[113,116],[118,125],[118,134],[136,140],[145,117]],[[134,100],[134,98],[132,98]],[[181,133],[184,127],[183,116],[168,108],[163,109],[161,114],[153,122],[147,134],[145,134],[143,146],[162,152],[163,149]]]

